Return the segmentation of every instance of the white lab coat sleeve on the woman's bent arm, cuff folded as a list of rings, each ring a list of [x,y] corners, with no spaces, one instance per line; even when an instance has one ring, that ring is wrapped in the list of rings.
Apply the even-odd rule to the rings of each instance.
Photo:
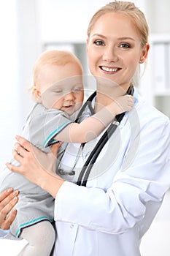
[[[169,120],[152,121],[138,136],[135,154],[134,140],[106,191],[63,183],[55,199],[55,220],[104,233],[123,233],[144,218],[150,203],[163,200],[170,187]]]

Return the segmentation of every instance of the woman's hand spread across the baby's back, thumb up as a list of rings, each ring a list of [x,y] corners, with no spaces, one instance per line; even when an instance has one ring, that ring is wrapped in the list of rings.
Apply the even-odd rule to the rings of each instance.
[[[15,143],[12,155],[20,163],[20,166],[8,162],[6,163],[7,168],[15,173],[20,173],[55,197],[63,184],[63,179],[55,174],[55,162],[60,144],[53,145],[50,153],[46,154],[29,143],[28,140],[20,136],[17,136],[16,139],[18,142]]]

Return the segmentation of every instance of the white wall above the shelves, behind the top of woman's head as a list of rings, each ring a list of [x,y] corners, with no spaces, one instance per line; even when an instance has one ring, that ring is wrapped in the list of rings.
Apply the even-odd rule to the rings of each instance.
[[[134,3],[144,10],[145,1],[134,0]],[[96,10],[108,2],[107,0],[37,0],[41,42],[85,42],[90,18]]]

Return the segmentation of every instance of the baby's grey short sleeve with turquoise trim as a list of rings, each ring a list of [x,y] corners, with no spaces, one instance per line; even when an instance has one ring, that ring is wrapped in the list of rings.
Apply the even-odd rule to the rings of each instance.
[[[51,146],[58,142],[55,136],[71,123],[69,116],[61,110],[34,110],[28,121],[29,141],[40,149]]]

